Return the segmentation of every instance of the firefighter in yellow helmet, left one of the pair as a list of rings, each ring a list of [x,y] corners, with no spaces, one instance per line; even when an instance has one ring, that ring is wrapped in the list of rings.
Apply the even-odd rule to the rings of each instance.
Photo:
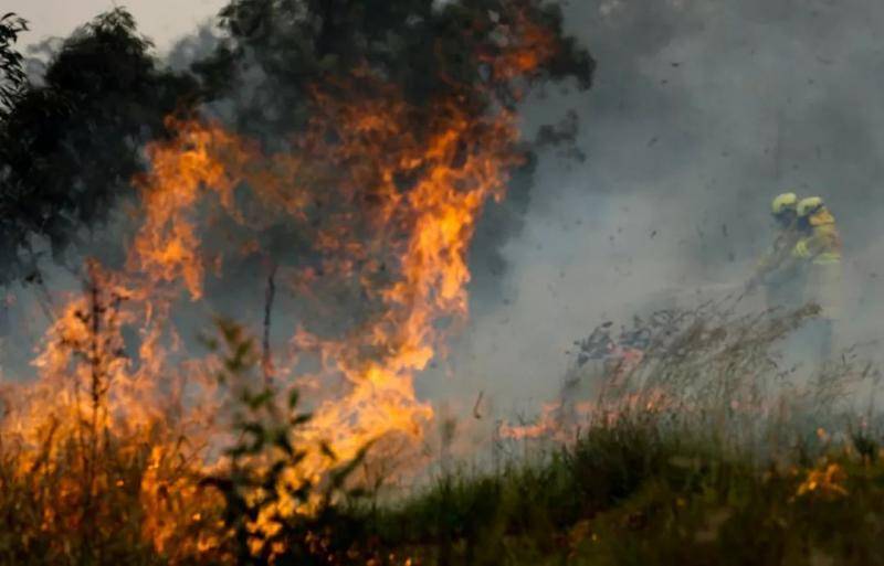
[[[747,284],[747,291],[758,285],[765,288],[768,309],[798,309],[802,296],[800,263],[791,253],[801,238],[798,228],[798,195],[783,193],[770,203],[770,213],[777,225],[774,243],[761,256],[755,274]]]

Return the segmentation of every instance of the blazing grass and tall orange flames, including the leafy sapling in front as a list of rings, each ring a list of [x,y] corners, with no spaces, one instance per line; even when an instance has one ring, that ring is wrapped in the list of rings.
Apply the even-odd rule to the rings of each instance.
[[[507,82],[554,54],[519,56],[549,33],[528,28],[503,30]],[[345,477],[421,469],[433,410],[413,376],[465,319],[476,221],[524,147],[503,105],[463,92],[410,104],[368,68],[340,83],[312,88],[303,131],[273,149],[196,116],[169,118],[171,137],[148,145],[125,261],[87,263],[84,292],[40,345],[39,378],[8,391],[12,563],[311,557],[325,535],[305,525],[350,489]],[[491,84],[463,88],[495,98]],[[223,356],[179,332],[178,311],[211,299],[231,264],[266,274],[257,356],[235,327],[214,344]],[[298,316],[272,342],[277,282]],[[292,414],[294,392],[308,417]]]

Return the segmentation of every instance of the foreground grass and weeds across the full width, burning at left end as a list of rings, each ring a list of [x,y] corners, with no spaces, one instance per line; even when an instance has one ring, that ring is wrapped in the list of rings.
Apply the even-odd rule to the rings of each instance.
[[[233,399],[214,466],[173,404],[130,426],[95,425],[119,418],[102,398],[126,382],[113,340],[92,332],[113,335],[125,301],[119,289],[86,291],[74,312],[83,333],[66,348],[94,353],[65,359],[98,402],[3,436],[4,564],[867,565],[884,553],[884,421],[856,416],[845,396],[874,372],[845,353],[800,391],[749,387],[799,373],[776,344],[813,309],[661,316],[642,364],[625,376],[606,366],[596,412],[556,421],[576,428],[498,439],[495,468],[449,462],[429,485],[382,495],[372,447],[341,458],[298,436],[313,416],[262,385],[259,348],[229,322],[209,341],[219,397]],[[653,404],[649,384],[666,392]],[[292,473],[314,451],[329,472]]]

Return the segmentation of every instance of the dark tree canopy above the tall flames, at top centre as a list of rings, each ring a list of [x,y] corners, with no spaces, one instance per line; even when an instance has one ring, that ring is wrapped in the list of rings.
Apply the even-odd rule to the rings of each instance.
[[[346,79],[367,67],[399,85],[418,107],[453,93],[472,98],[476,113],[491,102],[477,99],[478,84],[497,87],[498,102],[512,103],[508,77],[487,64],[505,49],[497,35],[519,14],[551,30],[561,42],[544,66],[544,78],[576,77],[588,88],[594,63],[562,38],[561,12],[533,0],[471,0],[434,8],[434,0],[233,0],[221,11],[229,33],[214,57],[194,66],[214,94],[239,89],[243,76],[263,77],[240,97],[241,126],[271,132],[297,127],[309,115],[309,89]],[[506,8],[506,10],[504,10]],[[484,55],[484,57],[483,57]]]

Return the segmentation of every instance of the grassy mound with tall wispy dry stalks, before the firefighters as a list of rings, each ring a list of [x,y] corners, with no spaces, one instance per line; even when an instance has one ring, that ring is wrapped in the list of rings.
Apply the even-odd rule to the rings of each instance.
[[[855,348],[793,365],[817,310],[736,303],[601,327],[561,399],[503,427],[493,472],[440,476],[376,534],[434,565],[880,564],[877,371]]]

